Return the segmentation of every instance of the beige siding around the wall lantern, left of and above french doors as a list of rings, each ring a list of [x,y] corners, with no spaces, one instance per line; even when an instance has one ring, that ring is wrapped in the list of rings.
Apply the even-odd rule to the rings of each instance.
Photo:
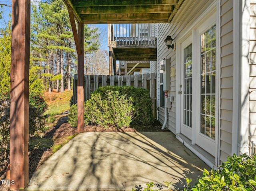
[[[172,20],[171,24],[158,24],[158,103],[160,102],[160,86],[159,86],[159,73],[160,73],[160,62],[165,57],[170,58],[171,64],[170,67],[177,68],[176,63],[176,47],[174,50],[167,49],[164,39],[166,36],[171,36],[174,41],[187,33],[188,28],[192,23],[194,23],[199,16],[212,4],[212,0],[202,1],[202,0],[193,0],[186,1],[186,3],[182,4],[182,8],[178,10],[177,15]],[[191,17],[193,15],[193,17]],[[176,46],[176,45],[174,45]],[[176,129],[176,77],[180,75],[176,73],[175,77],[170,77],[170,92],[169,96],[174,96],[174,102],[172,102],[172,108],[168,115],[168,128],[175,133]],[[178,85],[179,86],[179,85]],[[159,106],[159,104],[158,104]],[[158,114],[159,120],[161,123],[164,122],[164,109],[159,109]]]

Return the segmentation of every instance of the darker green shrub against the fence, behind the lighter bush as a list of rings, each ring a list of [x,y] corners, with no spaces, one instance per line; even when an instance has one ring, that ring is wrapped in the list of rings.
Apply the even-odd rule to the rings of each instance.
[[[154,121],[151,108],[152,101],[150,98],[150,92],[147,89],[128,86],[105,86],[99,87],[99,89],[92,92],[92,95],[95,93],[100,93],[102,99],[106,99],[108,97],[108,91],[117,91],[120,93],[120,95],[124,95],[127,99],[131,97],[132,104],[134,106],[132,123],[148,125]]]

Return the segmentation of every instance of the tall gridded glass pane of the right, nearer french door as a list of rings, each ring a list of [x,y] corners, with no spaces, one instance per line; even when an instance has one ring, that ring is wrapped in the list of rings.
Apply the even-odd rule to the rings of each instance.
[[[216,27],[201,35],[200,132],[215,139]]]

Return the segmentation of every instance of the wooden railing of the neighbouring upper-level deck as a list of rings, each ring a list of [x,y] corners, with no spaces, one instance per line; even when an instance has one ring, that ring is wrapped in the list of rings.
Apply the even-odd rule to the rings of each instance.
[[[156,24],[108,24],[108,46],[155,44]]]

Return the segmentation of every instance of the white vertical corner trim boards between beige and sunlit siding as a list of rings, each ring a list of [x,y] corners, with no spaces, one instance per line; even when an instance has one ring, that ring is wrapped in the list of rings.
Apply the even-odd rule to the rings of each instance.
[[[250,1],[233,1],[233,122],[232,154],[248,152],[250,82]],[[240,20],[240,18],[242,18]],[[239,37],[239,38],[238,38]],[[240,137],[240,138],[239,138]]]

